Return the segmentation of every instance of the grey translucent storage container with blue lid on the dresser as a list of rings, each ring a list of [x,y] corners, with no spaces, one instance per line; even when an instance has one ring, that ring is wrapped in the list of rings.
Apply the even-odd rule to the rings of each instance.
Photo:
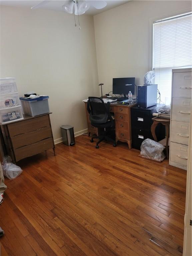
[[[38,116],[49,113],[49,96],[41,96],[39,98],[28,99],[20,97],[23,114],[28,116]]]

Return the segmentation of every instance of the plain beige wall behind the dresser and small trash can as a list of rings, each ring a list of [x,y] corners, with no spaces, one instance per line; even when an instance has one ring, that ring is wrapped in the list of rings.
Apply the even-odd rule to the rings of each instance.
[[[19,95],[49,95],[53,135],[70,124],[78,134],[87,128],[81,102],[98,95],[93,17],[26,7],[1,6],[0,77],[15,77]]]

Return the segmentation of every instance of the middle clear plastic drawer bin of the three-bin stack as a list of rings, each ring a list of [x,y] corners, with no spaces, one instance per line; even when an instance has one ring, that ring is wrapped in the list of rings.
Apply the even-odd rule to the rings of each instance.
[[[19,100],[19,94],[18,92],[14,93],[6,93],[0,95],[0,108],[10,108],[19,106],[20,100]]]

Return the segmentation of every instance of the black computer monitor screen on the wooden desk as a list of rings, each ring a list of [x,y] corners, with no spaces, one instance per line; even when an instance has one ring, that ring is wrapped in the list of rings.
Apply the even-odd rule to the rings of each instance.
[[[135,77],[113,78],[113,94],[128,94],[135,92]]]

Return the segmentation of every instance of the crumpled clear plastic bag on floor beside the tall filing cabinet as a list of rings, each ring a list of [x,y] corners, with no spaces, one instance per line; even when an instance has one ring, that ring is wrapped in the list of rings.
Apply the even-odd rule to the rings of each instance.
[[[141,144],[140,156],[151,160],[163,161],[165,159],[163,153],[164,149],[165,147],[158,142],[151,139],[145,139]]]

